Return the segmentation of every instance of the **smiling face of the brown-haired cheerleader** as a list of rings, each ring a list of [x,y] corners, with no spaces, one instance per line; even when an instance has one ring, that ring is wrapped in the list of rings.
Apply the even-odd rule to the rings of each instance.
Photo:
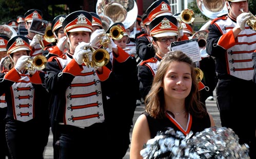
[[[184,100],[192,86],[191,68],[185,62],[172,62],[164,76],[163,90],[165,97]]]

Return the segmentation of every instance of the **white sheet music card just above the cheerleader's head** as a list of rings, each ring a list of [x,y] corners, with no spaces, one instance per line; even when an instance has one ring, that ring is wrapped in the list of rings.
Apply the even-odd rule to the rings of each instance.
[[[192,38],[180,42],[172,42],[171,51],[176,50],[184,52],[192,59],[193,62],[201,61],[201,53],[198,45],[198,38]]]

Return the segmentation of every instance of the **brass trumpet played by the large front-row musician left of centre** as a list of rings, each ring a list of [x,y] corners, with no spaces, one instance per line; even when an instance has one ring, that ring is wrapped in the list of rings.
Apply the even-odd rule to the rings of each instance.
[[[109,62],[109,53],[106,49],[93,49],[92,47],[85,47],[85,50],[90,49],[92,51],[91,58],[88,53],[84,54],[83,62],[85,66],[89,67],[102,67]]]

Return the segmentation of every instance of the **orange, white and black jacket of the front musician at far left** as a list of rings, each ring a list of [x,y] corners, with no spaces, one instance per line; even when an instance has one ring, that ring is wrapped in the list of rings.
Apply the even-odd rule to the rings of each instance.
[[[21,122],[28,122],[35,117],[49,120],[49,98],[43,83],[45,75],[41,71],[33,75],[26,70],[17,72],[15,68],[0,74],[0,95],[5,94],[8,117]]]

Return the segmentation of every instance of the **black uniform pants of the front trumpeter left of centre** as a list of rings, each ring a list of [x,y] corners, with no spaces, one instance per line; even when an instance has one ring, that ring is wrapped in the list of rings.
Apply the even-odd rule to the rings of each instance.
[[[96,123],[89,127],[80,128],[71,125],[59,125],[60,158],[108,158],[114,153],[108,150],[109,143],[105,123]]]

